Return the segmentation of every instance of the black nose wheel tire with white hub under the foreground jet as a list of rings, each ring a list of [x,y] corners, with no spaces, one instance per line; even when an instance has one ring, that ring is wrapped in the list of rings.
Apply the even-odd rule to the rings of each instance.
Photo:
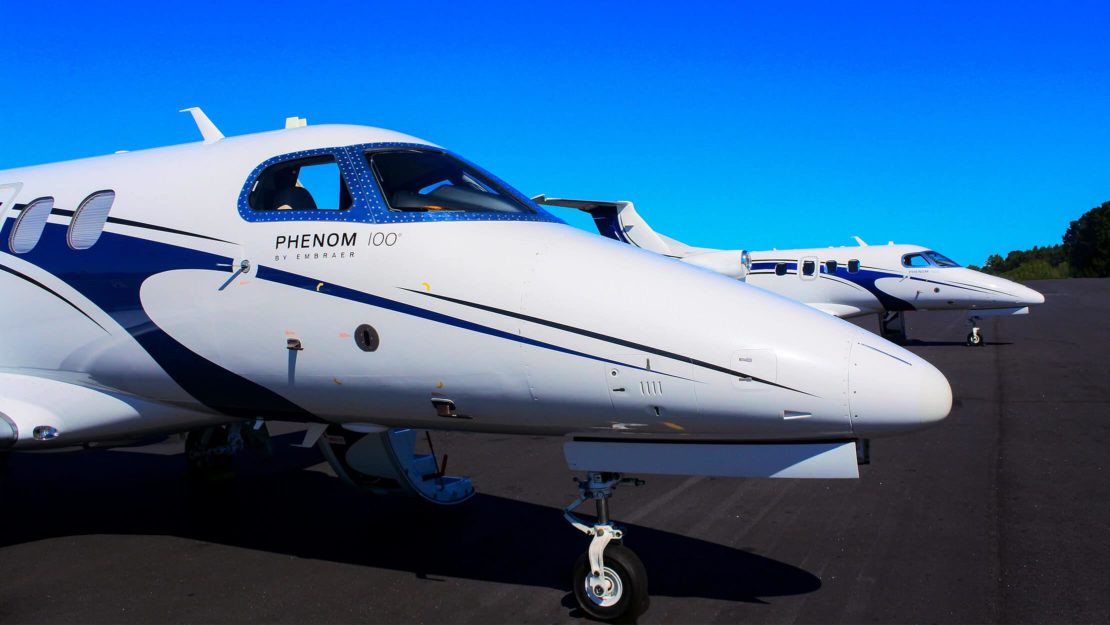
[[[647,611],[647,569],[639,557],[622,544],[605,547],[605,567],[601,577],[592,574],[589,555],[574,563],[574,598],[583,612],[602,621],[630,622]]]

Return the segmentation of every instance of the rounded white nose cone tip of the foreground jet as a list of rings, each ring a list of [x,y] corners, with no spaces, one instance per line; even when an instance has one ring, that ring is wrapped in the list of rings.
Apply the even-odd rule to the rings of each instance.
[[[948,416],[952,390],[937,367],[890,343],[857,342],[848,372],[852,432],[859,437],[920,430]]]

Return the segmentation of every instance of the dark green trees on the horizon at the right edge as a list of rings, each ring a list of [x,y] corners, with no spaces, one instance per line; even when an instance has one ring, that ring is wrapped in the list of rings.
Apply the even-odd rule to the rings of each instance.
[[[969,266],[1010,280],[1110,278],[1110,202],[1072,221],[1058,245],[991,254],[982,268]]]

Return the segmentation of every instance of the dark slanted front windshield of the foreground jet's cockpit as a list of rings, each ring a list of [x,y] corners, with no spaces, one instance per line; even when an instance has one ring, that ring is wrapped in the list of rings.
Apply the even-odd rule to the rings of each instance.
[[[391,211],[535,213],[474,168],[443,152],[380,150],[366,152],[366,160]]]

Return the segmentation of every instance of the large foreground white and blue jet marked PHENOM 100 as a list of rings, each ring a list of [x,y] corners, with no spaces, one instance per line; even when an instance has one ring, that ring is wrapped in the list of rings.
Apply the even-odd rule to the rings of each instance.
[[[648,602],[609,520],[625,474],[857,477],[862,441],[949,412],[912,353],[571,228],[426,141],[191,112],[203,142],[0,171],[0,446],[189,432],[203,468],[299,421],[352,485],[450,505],[471,482],[414,429],[563,436],[574,593],[619,618]]]

